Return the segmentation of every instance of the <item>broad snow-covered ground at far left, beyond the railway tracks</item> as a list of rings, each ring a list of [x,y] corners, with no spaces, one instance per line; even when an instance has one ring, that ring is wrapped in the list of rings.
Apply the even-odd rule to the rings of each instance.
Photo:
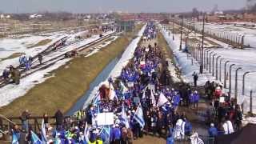
[[[89,43],[94,41],[95,39],[98,39],[99,36],[98,35],[94,35],[91,38],[87,38],[84,41],[81,42],[76,42],[77,40],[74,38],[80,34],[84,34],[86,33],[87,30],[85,31],[81,31],[78,33],[74,33],[74,34],[58,34],[58,33],[54,33],[54,35],[52,36],[31,36],[31,37],[27,37],[27,38],[7,38],[7,39],[2,39],[0,40],[0,58],[6,58],[8,56],[10,56],[11,54],[14,53],[24,53],[26,54],[26,56],[35,56],[38,53],[42,52],[43,50],[46,50],[46,48],[52,44],[54,44],[54,42],[58,42],[58,40],[64,38],[64,37],[69,37],[67,39],[67,41],[69,42],[69,46],[65,46],[64,48],[62,48],[61,50],[58,50],[58,52],[66,52],[66,50],[70,50],[70,47],[78,47],[78,46],[82,46],[85,42]],[[34,47],[34,48],[28,48],[28,46],[34,45],[38,42],[40,42],[42,39],[51,39],[52,41],[48,44],[46,44],[45,46],[38,46],[38,47]],[[71,42],[73,42],[73,44],[71,44]],[[74,43],[76,42],[76,43]],[[1,47],[4,47],[1,50]],[[62,54],[61,53],[61,54]],[[49,60],[49,58],[55,57],[55,55],[58,53],[52,53],[47,55],[43,61]],[[0,72],[2,72],[2,70],[6,69],[6,66],[18,66],[19,62],[18,62],[18,58],[10,58],[10,59],[6,59],[2,62],[0,62]]]

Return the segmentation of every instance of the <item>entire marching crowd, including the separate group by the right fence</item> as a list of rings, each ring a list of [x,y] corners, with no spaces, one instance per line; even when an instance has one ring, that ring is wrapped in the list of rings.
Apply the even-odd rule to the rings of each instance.
[[[156,32],[155,26],[148,24],[144,35],[154,34],[152,30]],[[43,114],[47,136],[45,138],[44,132],[40,131],[38,142],[47,139],[50,143],[131,144],[144,134],[166,138],[168,144],[187,137],[202,142],[198,134],[193,133],[186,113],[178,110],[178,106],[198,109],[199,92],[189,84],[173,88],[166,82],[166,78],[170,78],[168,74],[166,61],[157,43],[154,46],[138,46],[119,77],[103,82],[85,110],[78,110],[70,117],[65,117],[58,110],[54,114],[55,129],[50,126],[48,115]],[[197,86],[197,83],[194,85]],[[209,136],[231,134],[238,130],[242,113],[235,100],[223,95],[220,86],[207,82],[205,87],[206,94],[210,94],[212,100],[206,111]],[[220,97],[225,97],[224,102],[220,102]],[[113,114],[113,123],[100,124],[100,115],[108,113]],[[33,143],[35,139],[29,119],[30,114],[26,110],[21,116],[22,130],[27,132],[26,142]],[[17,135],[20,132],[17,126],[13,131]]]

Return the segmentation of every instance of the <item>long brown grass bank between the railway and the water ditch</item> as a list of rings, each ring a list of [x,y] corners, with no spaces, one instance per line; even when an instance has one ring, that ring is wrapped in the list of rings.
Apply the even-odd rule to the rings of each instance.
[[[112,42],[106,48],[90,57],[80,56],[72,59],[65,66],[54,70],[55,75],[46,82],[38,84],[21,98],[17,98],[8,106],[3,106],[0,114],[19,116],[23,110],[30,110],[32,115],[42,115],[47,111],[49,115],[60,109],[66,112],[77,102],[78,98],[89,89],[90,82],[104,69],[104,67],[122,51],[134,38],[134,34],[142,26],[137,26],[133,33],[126,33]]]

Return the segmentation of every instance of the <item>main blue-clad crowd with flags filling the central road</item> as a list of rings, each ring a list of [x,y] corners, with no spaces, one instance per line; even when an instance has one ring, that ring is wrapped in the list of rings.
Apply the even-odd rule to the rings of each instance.
[[[155,26],[148,24],[146,31],[151,34],[152,30],[155,31]],[[157,43],[138,46],[120,76],[103,83],[85,110],[78,110],[72,117],[64,117],[58,110],[54,115],[56,129],[50,128],[47,114],[43,115],[46,128],[42,130],[46,130],[47,142],[130,144],[143,134],[150,134],[174,143],[174,139],[189,136],[192,125],[185,113],[178,114],[181,92],[165,82],[169,78],[166,71],[166,61]],[[112,124],[98,123],[98,115],[103,113],[114,114]],[[22,113],[22,130],[28,132],[27,142],[34,142],[29,118],[28,111]],[[38,139],[45,139],[42,131]]]

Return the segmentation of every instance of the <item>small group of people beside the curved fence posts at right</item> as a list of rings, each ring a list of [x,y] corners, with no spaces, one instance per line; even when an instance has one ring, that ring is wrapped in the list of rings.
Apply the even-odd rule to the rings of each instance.
[[[210,125],[211,137],[219,134],[232,134],[242,127],[242,110],[235,98],[225,94],[222,84],[207,81],[205,85],[206,96],[210,98],[206,110],[206,122]]]

